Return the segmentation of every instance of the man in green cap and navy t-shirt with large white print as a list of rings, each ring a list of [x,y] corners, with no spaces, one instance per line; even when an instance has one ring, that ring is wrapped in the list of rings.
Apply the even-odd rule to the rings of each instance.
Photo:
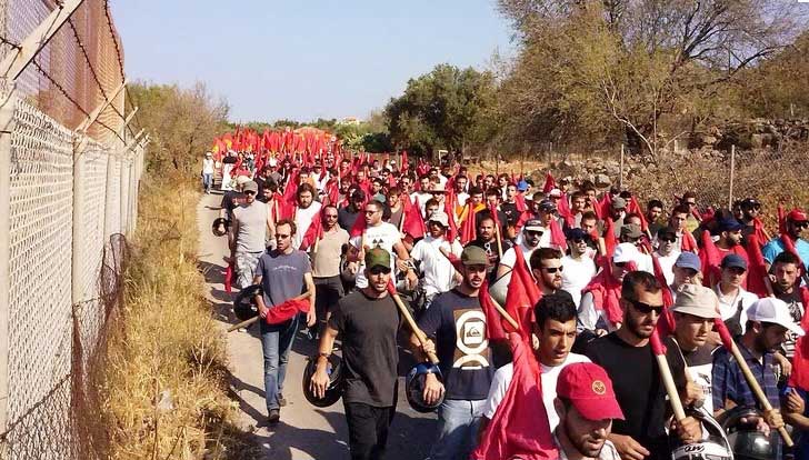
[[[482,249],[467,247],[461,253],[463,281],[436,297],[419,320],[419,328],[436,341],[445,381],[441,384],[433,373],[427,374],[425,400],[432,403],[446,392],[438,409],[438,439],[432,444],[431,460],[467,459],[475,449],[495,373],[486,337],[486,314],[478,299],[488,263]],[[410,342],[416,358],[423,360],[415,334]]]

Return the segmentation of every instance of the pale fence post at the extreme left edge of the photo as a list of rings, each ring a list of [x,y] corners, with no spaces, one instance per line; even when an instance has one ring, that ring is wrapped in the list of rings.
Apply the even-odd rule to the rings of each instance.
[[[11,303],[11,242],[9,216],[11,203],[11,121],[14,116],[16,97],[10,97],[0,107],[0,432],[7,430],[9,401],[9,313]],[[4,444],[0,446],[0,458],[4,458]]]

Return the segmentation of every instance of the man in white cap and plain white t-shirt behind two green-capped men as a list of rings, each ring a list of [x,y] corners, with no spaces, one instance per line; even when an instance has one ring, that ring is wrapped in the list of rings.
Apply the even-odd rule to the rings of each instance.
[[[459,281],[452,262],[448,256],[461,256],[460,243],[456,241],[447,241],[445,236],[449,228],[449,217],[443,211],[436,211],[430,214],[427,221],[428,234],[416,243],[410,257],[421,262],[419,270],[425,274],[425,294],[427,296],[428,308],[432,299],[441,292],[452,289]]]

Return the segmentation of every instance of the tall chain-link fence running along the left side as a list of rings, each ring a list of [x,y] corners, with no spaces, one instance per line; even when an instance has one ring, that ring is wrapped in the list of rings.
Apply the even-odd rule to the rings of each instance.
[[[0,0],[0,459],[93,458],[147,140],[104,0]]]

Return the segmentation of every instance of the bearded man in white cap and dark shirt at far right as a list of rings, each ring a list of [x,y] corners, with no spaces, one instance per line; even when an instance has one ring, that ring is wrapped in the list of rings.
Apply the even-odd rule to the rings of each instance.
[[[741,356],[747,361],[750,371],[756,377],[772,409],[762,413],[763,423],[759,429],[768,432],[783,427],[780,413],[781,401],[778,391],[778,378],[775,373],[775,352],[785,340],[788,332],[803,336],[800,326],[792,321],[789,308],[782,300],[767,297],[759,299],[747,310],[747,328],[741,339],[737,341]],[[757,406],[753,392],[742,374],[739,363],[733,356],[725,349],[716,352],[713,358],[713,413],[719,417],[725,410],[735,406]],[[780,440],[780,438],[779,438]],[[773,458],[780,459],[780,442],[776,442],[777,452]]]

